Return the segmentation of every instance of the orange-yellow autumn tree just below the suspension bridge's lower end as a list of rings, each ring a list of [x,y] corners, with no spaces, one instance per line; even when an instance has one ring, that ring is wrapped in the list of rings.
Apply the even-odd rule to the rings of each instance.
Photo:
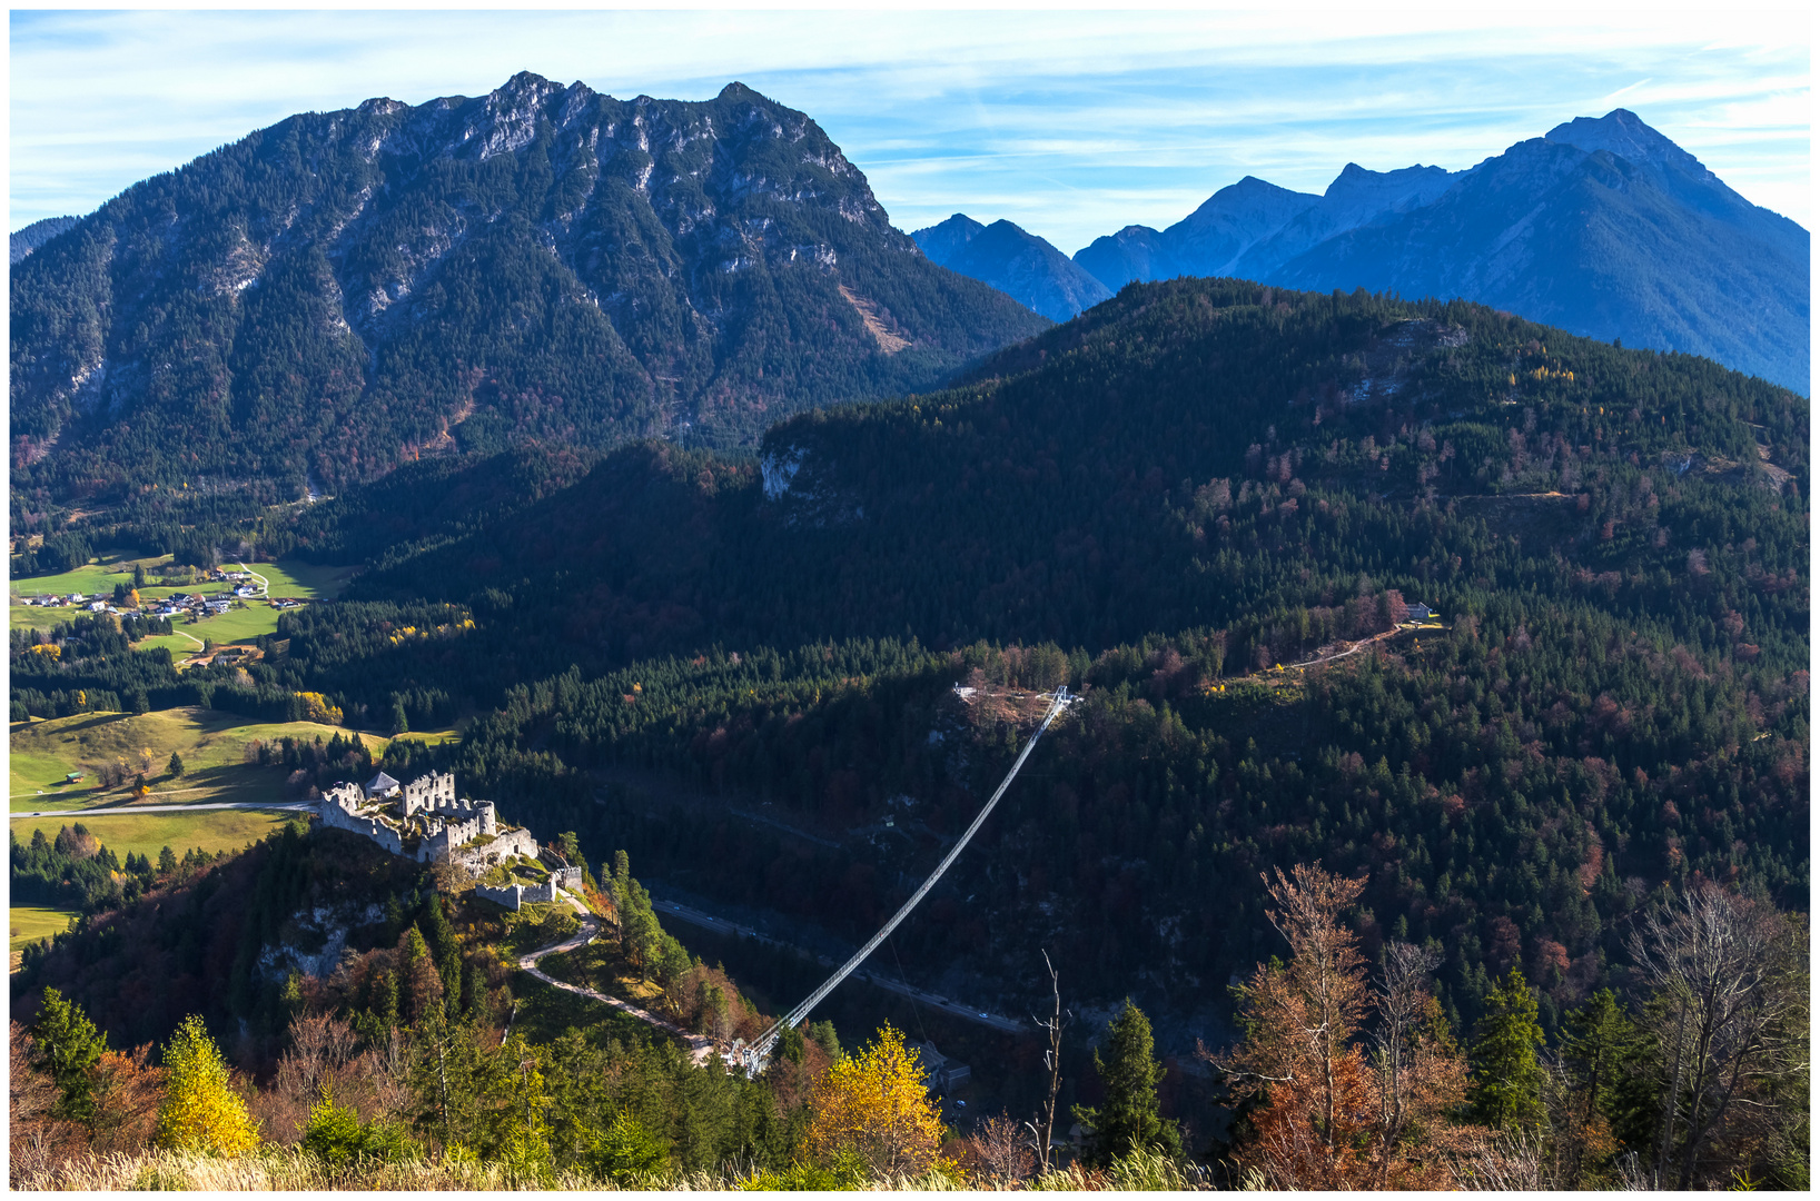
[[[941,1114],[915,1050],[888,1023],[859,1055],[828,1068],[810,1106],[808,1146],[823,1163],[859,1156],[874,1176],[914,1176],[937,1165]]]

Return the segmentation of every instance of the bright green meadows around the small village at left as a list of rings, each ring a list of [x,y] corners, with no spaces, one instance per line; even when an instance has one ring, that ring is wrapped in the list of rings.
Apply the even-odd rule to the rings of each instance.
[[[75,571],[64,571],[62,575],[33,575],[24,580],[11,580],[9,591],[13,597],[36,597],[40,593],[62,593],[80,591],[86,597],[102,595],[111,597],[115,584],[133,582],[133,568],[144,566],[146,575],[151,579],[158,577],[164,564],[171,562],[169,555],[160,557],[131,557],[118,551],[102,555],[91,560],[84,568]],[[353,568],[333,568],[318,566],[313,562],[302,562],[295,559],[286,559],[280,562],[255,562],[255,564],[228,564],[244,568],[257,575],[262,575],[268,582],[268,591],[273,597],[302,597],[302,599],[329,599],[340,595],[342,588],[353,577]],[[220,584],[193,584],[193,586],[171,586],[160,588],[158,584],[147,584],[138,590],[140,599],[169,597],[175,591],[207,591],[213,593]],[[69,621],[76,615],[71,608],[51,608],[40,610],[36,606],[11,604],[11,628],[13,630],[49,630],[60,621]],[[271,633],[278,628],[278,610],[271,608],[264,600],[253,600],[244,610],[228,610],[220,617],[209,617],[207,621],[187,626],[187,630],[198,639],[215,639],[217,642],[233,642],[237,639],[251,639],[260,633]],[[178,650],[195,650],[184,639],[177,637],[158,637],[147,639],[144,646],[169,646]]]

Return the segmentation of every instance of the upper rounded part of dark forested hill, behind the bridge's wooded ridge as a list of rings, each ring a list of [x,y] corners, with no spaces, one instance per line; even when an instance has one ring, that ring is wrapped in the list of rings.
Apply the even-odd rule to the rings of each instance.
[[[1540,590],[1720,644],[1724,611],[1682,580],[1734,575],[1725,608],[1774,653],[1805,604],[1805,402],[1705,360],[1465,304],[1176,282],[965,389],[784,422],[759,462],[626,449],[351,595],[506,591],[513,655],[561,670],[908,633],[1099,650],[1267,619],[1289,651],[1296,613],[1343,606],[1360,573],[1431,604]]]

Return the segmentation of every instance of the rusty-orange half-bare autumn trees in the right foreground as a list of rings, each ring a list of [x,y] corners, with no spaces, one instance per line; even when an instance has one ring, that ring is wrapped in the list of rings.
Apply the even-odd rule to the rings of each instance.
[[[1259,966],[1239,988],[1245,1041],[1207,1055],[1236,1097],[1263,1101],[1239,1165],[1272,1188],[1445,1186],[1447,1163],[1472,1135],[1449,1121],[1467,1066],[1427,992],[1432,959],[1392,944],[1372,988],[1358,935],[1340,921],[1365,881],[1296,864],[1265,886],[1290,961]],[[1367,1052],[1360,1035],[1374,1010]]]

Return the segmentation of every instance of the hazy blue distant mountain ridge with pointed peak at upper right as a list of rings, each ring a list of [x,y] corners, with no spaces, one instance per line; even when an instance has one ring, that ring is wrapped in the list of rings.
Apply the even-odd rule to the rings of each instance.
[[[1225,235],[1194,242],[1194,222]],[[1349,164],[1323,197],[1247,177],[1161,233],[1130,226],[1074,260],[1108,288],[1236,275],[1463,297],[1587,337],[1705,355],[1807,395],[1807,247],[1804,227],[1614,109],[1469,171]]]

